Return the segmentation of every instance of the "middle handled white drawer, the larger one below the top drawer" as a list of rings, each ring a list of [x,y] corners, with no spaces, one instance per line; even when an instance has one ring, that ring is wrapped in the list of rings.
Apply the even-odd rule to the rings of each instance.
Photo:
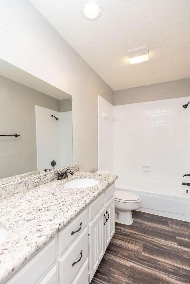
[[[83,230],[83,232],[78,236],[78,238],[72,243],[72,245],[58,260],[59,284],[70,284],[74,277],[77,275],[77,272],[83,265],[87,256],[88,229],[86,227],[85,230]],[[75,262],[77,263],[74,264]]]

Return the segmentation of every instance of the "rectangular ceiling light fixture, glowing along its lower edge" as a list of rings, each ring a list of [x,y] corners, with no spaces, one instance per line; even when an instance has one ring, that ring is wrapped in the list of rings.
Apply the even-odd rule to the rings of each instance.
[[[148,45],[127,50],[127,55],[131,64],[140,65],[148,63]]]

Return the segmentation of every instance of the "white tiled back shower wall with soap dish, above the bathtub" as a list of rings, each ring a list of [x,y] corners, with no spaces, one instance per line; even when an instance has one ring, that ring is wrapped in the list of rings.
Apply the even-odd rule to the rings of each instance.
[[[114,106],[114,174],[159,182],[189,182],[190,97]],[[112,153],[110,153],[112,155]],[[142,171],[142,165],[150,171]]]

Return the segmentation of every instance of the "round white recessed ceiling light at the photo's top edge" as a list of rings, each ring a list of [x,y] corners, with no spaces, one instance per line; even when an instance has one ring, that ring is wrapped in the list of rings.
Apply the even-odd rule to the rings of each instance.
[[[89,21],[97,20],[102,15],[102,5],[99,1],[86,0],[80,8],[82,16]]]

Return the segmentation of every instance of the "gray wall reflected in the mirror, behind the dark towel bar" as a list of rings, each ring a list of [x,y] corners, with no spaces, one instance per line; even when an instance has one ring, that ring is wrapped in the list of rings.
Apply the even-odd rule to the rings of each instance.
[[[59,100],[0,76],[0,179],[37,169],[35,105],[60,111]]]

